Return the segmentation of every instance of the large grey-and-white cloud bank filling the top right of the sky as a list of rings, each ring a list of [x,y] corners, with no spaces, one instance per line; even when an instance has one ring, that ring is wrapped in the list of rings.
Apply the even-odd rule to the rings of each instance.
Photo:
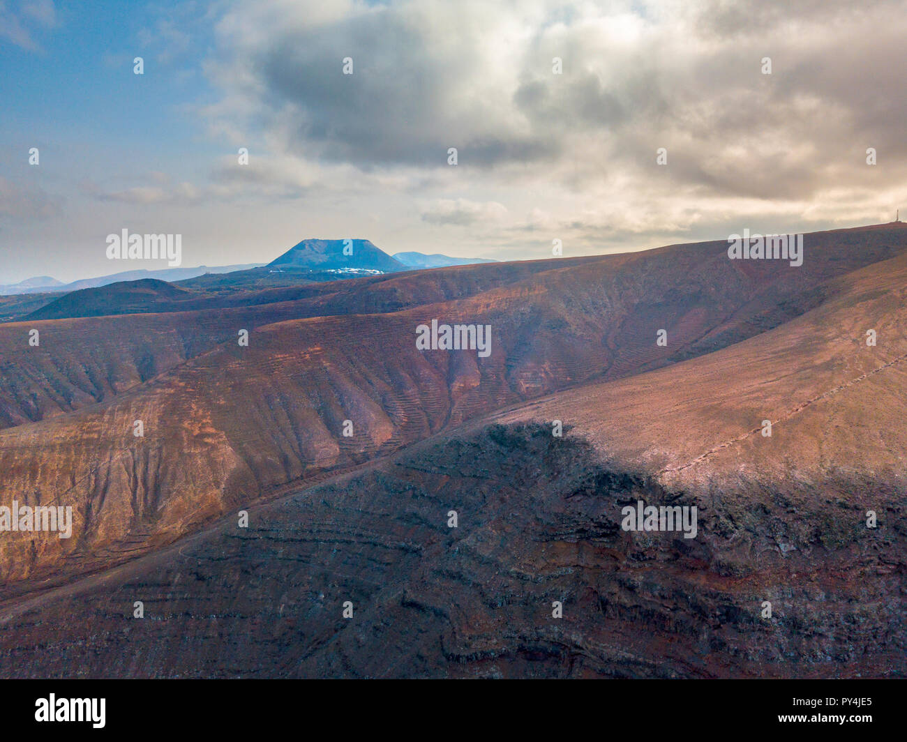
[[[861,147],[907,165],[903,9],[237,5],[218,25],[208,70],[225,95],[209,113],[234,132],[259,127],[275,150],[364,172],[439,171],[454,146],[461,168],[502,185],[584,190],[645,174],[690,198],[817,196],[829,178],[869,175]]]

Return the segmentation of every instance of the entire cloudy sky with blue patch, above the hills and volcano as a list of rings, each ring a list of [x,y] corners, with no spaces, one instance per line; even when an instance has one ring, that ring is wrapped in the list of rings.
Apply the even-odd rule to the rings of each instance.
[[[0,283],[167,267],[122,229],[190,267],[891,221],[905,38],[907,0],[0,0]]]

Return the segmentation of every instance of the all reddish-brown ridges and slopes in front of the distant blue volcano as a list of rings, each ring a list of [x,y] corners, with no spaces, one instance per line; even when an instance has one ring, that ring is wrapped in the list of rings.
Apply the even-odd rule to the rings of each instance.
[[[0,504],[75,513],[0,538],[0,674],[907,674],[907,228],[726,249],[0,326]],[[434,317],[492,355],[418,351]]]

